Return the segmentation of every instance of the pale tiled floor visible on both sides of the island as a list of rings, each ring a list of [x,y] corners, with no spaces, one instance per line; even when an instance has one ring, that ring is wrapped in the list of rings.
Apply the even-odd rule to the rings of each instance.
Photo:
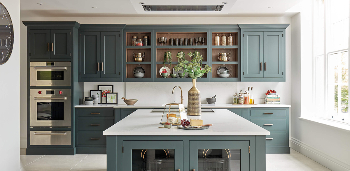
[[[21,149],[21,171],[105,171],[106,155],[25,156]],[[267,154],[266,171],[330,171],[290,149],[290,154]]]

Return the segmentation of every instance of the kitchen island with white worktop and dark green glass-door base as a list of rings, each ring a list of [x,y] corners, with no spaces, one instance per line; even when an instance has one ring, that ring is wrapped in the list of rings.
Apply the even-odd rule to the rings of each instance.
[[[230,112],[188,116],[213,124],[205,130],[158,128],[162,113],[137,110],[103,131],[107,136],[107,171],[199,170],[265,171],[265,136],[269,131]]]

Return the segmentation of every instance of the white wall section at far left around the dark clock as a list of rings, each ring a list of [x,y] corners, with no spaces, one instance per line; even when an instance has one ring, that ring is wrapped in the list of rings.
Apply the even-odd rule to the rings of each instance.
[[[0,170],[19,170],[20,133],[20,0],[2,0],[14,29],[14,47],[9,60],[0,65]]]

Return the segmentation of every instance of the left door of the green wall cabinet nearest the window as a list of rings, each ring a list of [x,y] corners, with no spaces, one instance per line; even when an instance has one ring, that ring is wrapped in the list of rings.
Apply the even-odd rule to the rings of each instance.
[[[243,37],[243,77],[264,77],[263,62],[263,32],[244,31]]]

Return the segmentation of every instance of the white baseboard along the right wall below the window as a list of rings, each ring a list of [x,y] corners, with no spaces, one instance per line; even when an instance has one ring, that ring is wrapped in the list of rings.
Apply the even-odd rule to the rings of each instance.
[[[350,171],[350,165],[339,161],[337,158],[324,154],[322,151],[311,147],[308,144],[301,142],[295,138],[290,140],[290,148],[300,152],[317,163],[322,164],[332,171]]]

